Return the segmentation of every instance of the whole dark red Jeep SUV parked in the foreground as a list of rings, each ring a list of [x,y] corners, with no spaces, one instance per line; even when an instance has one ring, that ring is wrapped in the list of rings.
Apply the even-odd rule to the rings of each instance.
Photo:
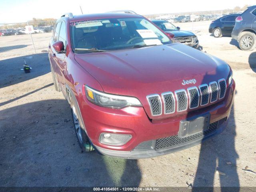
[[[49,59],[86,152],[158,156],[199,144],[227,124],[230,66],[174,42],[132,11],[63,15]]]

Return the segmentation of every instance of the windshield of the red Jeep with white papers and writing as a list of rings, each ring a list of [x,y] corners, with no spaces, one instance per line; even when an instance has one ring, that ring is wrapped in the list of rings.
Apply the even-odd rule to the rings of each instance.
[[[143,18],[109,18],[70,23],[74,52],[119,50],[170,44],[171,40]],[[84,49],[84,50],[83,50]]]

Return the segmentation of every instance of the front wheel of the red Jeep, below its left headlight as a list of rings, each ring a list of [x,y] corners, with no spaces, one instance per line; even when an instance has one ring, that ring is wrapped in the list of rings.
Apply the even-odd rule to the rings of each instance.
[[[82,149],[82,152],[91,152],[94,150],[94,148],[85,132],[84,124],[82,123],[82,117],[80,116],[80,112],[78,111],[78,105],[76,104],[74,98],[71,96],[70,93],[68,93],[68,97],[70,100],[70,108],[78,144]]]

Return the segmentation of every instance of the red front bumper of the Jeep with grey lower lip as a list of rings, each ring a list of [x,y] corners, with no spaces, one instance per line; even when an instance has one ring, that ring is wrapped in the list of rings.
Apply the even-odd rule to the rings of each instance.
[[[148,158],[175,152],[200,144],[224,129],[227,121],[220,125],[214,132],[204,135],[202,138],[182,143],[171,148],[160,150],[134,150],[139,144],[146,141],[158,140],[170,136],[176,136],[179,131],[180,121],[186,118],[201,116],[210,113],[210,124],[228,118],[234,99],[235,82],[227,88],[226,96],[223,100],[211,106],[194,110],[188,114],[174,114],[172,118],[163,120],[150,120],[142,107],[127,107],[123,109],[110,109],[96,106],[86,100],[80,105],[80,110],[86,133],[90,138],[94,148],[101,154],[108,156],[118,156],[121,158]],[[90,113],[88,113],[88,111]],[[130,134],[132,139],[123,146],[104,145],[99,142],[99,136],[102,132],[116,134]]]

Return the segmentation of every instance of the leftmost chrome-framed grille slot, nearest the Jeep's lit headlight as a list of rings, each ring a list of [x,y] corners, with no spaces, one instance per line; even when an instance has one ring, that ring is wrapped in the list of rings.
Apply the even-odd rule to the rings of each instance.
[[[152,116],[158,116],[162,114],[162,101],[160,95],[152,94],[147,96],[148,104],[150,105],[150,110]]]

